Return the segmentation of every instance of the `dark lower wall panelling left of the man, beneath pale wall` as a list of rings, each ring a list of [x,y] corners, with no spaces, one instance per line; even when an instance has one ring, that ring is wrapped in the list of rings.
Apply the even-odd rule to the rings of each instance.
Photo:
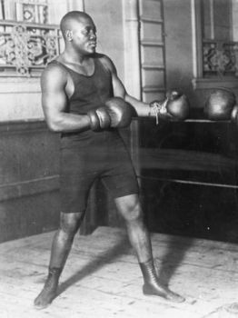
[[[0,124],[0,242],[58,226],[59,143],[42,121]]]

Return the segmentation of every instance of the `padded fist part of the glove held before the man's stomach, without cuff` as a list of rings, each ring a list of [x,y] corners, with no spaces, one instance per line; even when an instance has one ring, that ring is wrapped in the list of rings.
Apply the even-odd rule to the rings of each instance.
[[[110,116],[112,128],[123,128],[131,124],[134,109],[121,97],[112,97],[105,102],[105,109]]]

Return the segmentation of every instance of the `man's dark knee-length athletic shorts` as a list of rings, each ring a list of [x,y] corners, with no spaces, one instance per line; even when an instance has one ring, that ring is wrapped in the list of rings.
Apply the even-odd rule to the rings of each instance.
[[[102,180],[114,198],[138,194],[134,167],[120,136],[105,134],[62,149],[61,211],[66,214],[84,211],[96,179]]]

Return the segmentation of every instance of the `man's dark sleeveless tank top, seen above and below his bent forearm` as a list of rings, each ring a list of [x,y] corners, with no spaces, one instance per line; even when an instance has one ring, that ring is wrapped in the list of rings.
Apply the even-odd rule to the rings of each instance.
[[[66,65],[54,60],[51,64],[57,64],[68,72],[74,82],[74,94],[69,98],[65,112],[71,114],[86,114],[89,110],[103,106],[105,101],[113,96],[112,75],[109,70],[100,61],[99,57],[94,58],[94,74],[81,75]],[[92,144],[101,142],[113,142],[114,137],[119,134],[115,129],[109,129],[103,132],[93,132],[86,130],[84,132],[63,133],[61,134],[62,148],[80,145],[85,143]],[[82,146],[83,146],[82,144]]]

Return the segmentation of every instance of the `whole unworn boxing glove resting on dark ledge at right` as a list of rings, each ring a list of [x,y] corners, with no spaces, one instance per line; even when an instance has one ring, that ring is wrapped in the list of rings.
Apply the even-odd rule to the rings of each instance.
[[[233,92],[226,88],[218,88],[208,96],[203,111],[210,120],[230,120],[234,105]]]

